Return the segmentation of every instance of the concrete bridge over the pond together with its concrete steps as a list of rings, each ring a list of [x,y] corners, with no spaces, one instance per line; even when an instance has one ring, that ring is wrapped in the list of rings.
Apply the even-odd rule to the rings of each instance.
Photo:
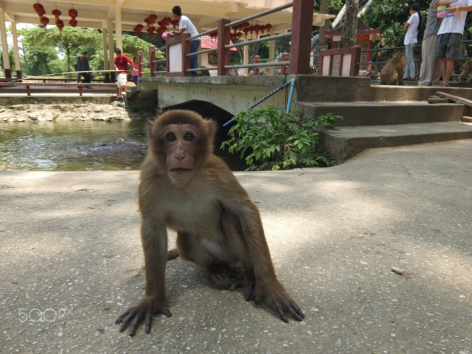
[[[337,162],[366,148],[399,146],[472,138],[471,107],[452,102],[430,104],[438,90],[472,98],[468,87],[371,85],[368,77],[288,75],[295,78],[292,110],[312,118],[341,115],[340,131],[324,131],[320,143]],[[140,77],[128,105],[156,103],[156,113],[169,109],[195,110],[225,123],[282,84],[284,76]],[[286,107],[284,91],[260,107]],[[228,128],[227,128],[228,129]],[[220,139],[227,129],[220,129]]]

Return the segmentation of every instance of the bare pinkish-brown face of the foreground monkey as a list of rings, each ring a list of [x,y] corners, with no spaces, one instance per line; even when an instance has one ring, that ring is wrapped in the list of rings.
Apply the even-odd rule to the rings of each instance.
[[[187,182],[201,150],[202,137],[198,129],[189,124],[171,124],[163,130],[162,138],[169,177],[177,184]]]

